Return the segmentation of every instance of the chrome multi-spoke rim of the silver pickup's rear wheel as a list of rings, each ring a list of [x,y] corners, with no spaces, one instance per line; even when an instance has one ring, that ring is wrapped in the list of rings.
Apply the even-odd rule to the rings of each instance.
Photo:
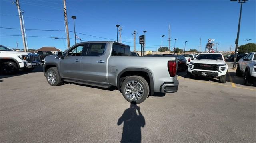
[[[124,92],[130,100],[140,100],[144,94],[142,85],[134,80],[125,84]]]

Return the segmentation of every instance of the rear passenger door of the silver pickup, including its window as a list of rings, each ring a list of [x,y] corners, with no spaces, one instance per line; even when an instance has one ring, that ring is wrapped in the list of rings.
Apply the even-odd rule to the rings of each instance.
[[[106,47],[108,43],[90,43],[86,56],[82,57],[81,79],[92,82],[105,82],[107,74]]]

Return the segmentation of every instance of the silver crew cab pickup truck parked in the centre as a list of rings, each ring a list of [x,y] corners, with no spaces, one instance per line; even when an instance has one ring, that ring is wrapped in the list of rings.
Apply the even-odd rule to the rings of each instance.
[[[62,82],[116,86],[128,102],[136,103],[154,92],[178,90],[175,57],[133,57],[128,45],[113,41],[78,43],[44,61],[44,76],[52,86]]]

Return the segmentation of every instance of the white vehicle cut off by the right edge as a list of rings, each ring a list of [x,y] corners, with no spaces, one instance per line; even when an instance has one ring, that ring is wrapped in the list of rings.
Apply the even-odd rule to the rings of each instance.
[[[256,52],[248,53],[237,63],[236,76],[244,74],[244,85],[248,82],[256,86]]]

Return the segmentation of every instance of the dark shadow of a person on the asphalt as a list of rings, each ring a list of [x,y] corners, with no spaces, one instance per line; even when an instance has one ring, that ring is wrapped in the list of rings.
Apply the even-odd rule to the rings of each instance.
[[[138,113],[137,113],[138,112]],[[129,108],[124,110],[122,116],[118,119],[117,125],[123,124],[121,143],[140,143],[141,127],[146,125],[144,116],[140,112],[140,107],[136,102],[131,102]]]

